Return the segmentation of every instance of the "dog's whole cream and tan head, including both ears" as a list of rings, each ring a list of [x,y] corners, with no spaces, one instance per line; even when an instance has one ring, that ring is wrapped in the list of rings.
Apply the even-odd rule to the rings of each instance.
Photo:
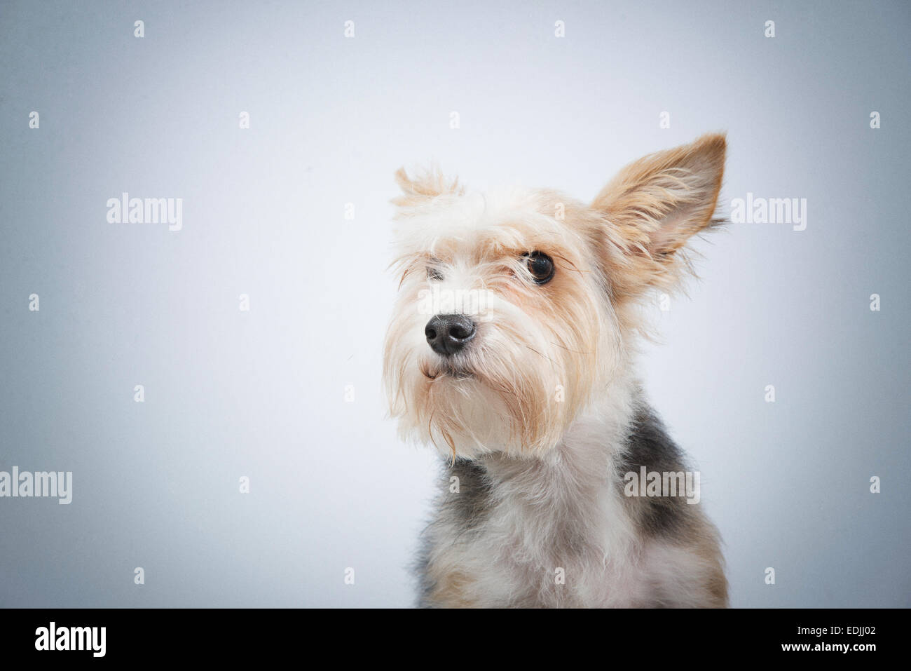
[[[723,136],[704,136],[633,163],[590,205],[399,170],[384,380],[405,437],[466,458],[555,446],[622,372],[637,299],[673,284],[711,224],[723,163]]]

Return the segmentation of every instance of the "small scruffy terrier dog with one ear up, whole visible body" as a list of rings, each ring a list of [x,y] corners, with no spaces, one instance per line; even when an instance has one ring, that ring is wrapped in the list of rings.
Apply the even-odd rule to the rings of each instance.
[[[727,605],[700,507],[628,481],[685,470],[632,363],[643,298],[722,222],[724,154],[721,134],[651,154],[589,205],[398,170],[384,384],[403,438],[447,458],[420,605]]]

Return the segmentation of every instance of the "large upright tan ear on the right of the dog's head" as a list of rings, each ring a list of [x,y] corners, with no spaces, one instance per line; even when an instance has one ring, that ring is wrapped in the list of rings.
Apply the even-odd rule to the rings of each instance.
[[[592,202],[606,220],[607,262],[617,298],[670,284],[681,247],[711,226],[724,173],[724,135],[703,135],[620,170]]]

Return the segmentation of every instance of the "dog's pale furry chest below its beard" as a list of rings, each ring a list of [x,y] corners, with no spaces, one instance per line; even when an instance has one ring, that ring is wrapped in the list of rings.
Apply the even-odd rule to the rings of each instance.
[[[426,598],[438,605],[625,606],[647,591],[643,549],[610,450],[530,463],[456,463],[428,530]],[[570,456],[571,455],[571,456]],[[455,477],[457,480],[452,480]]]

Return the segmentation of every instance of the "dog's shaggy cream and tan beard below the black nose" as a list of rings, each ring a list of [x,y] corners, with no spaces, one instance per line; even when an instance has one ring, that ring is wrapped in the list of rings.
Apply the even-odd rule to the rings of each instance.
[[[500,308],[450,357],[419,337],[425,317],[394,321],[384,377],[404,438],[432,443],[454,459],[532,455],[557,444],[597,384],[591,314],[548,329],[541,315]]]

